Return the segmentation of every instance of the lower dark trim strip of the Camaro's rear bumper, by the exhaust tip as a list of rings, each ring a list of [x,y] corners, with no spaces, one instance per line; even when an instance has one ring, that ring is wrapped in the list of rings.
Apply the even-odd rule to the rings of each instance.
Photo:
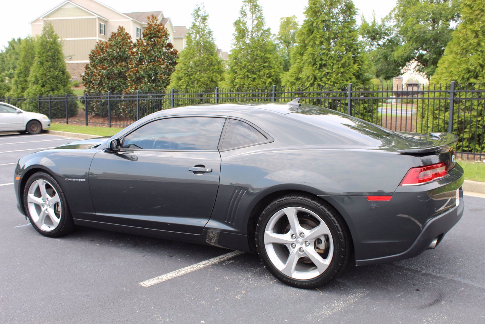
[[[463,191],[460,190],[460,198],[463,198]],[[384,263],[391,261],[398,261],[407,259],[414,256],[419,256],[423,253],[431,244],[433,239],[437,236],[444,236],[463,216],[463,210],[465,203],[463,199],[460,199],[460,204],[457,207],[449,209],[445,213],[436,216],[424,225],[420,235],[414,241],[414,243],[403,253],[395,254],[392,256],[376,257],[372,259],[356,260],[357,266]]]

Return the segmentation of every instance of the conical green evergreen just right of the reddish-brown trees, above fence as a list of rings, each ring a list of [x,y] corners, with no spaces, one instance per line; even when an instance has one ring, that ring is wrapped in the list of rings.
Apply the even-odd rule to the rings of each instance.
[[[209,28],[209,15],[203,6],[197,5],[192,17],[187,46],[180,52],[169,88],[211,89],[223,77],[224,67]]]

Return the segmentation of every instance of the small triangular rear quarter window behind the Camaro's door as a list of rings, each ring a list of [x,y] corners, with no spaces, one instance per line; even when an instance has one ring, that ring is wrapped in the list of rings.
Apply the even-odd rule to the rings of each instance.
[[[241,120],[230,119],[227,124],[221,149],[225,150],[233,147],[257,144],[265,142],[266,140],[267,138],[253,126]]]

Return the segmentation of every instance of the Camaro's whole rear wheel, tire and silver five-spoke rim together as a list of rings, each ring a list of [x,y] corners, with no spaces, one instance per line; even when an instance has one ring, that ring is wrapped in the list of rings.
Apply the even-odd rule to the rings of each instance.
[[[306,289],[337,277],[352,252],[350,233],[339,213],[306,194],[285,195],[264,209],[256,246],[277,279]]]

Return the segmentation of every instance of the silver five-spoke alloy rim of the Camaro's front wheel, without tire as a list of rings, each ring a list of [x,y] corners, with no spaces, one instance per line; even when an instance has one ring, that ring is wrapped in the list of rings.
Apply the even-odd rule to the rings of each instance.
[[[61,199],[54,186],[44,179],[35,180],[27,193],[27,205],[32,222],[43,231],[50,232],[61,221]]]

